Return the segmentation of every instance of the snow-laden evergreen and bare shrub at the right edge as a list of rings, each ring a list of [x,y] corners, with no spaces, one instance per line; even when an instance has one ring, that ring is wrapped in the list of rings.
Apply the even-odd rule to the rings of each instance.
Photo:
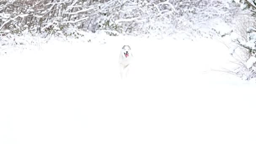
[[[233,42],[238,45],[232,48],[232,54],[235,51],[243,53],[235,74],[251,80],[256,77],[256,0],[232,0],[232,3],[239,3],[240,8],[248,13],[240,20],[237,34],[232,34]]]

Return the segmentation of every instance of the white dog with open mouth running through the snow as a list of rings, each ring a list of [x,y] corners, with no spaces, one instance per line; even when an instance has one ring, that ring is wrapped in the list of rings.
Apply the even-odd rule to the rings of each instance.
[[[119,56],[121,78],[128,76],[132,57],[131,47],[129,45],[124,45]]]

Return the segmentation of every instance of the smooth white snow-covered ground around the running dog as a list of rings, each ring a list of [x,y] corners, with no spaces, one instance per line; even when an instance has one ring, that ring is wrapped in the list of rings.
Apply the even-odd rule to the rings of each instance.
[[[0,144],[255,144],[256,84],[211,71],[233,67],[223,43],[90,40],[0,56]]]

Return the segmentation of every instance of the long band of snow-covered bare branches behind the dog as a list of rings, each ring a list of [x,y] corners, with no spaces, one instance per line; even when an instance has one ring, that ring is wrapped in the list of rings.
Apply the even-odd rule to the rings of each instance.
[[[211,19],[230,22],[234,9],[228,7],[223,0],[2,0],[0,32],[194,35]]]

